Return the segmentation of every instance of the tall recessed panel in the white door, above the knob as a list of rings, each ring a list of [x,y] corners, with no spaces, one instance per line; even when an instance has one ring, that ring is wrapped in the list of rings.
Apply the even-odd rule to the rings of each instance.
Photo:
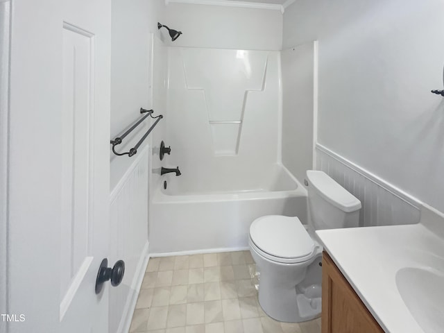
[[[70,24],[63,27],[62,108],[62,244],[60,316],[92,264],[94,221],[92,187],[92,123],[94,86],[91,45],[94,36]]]

